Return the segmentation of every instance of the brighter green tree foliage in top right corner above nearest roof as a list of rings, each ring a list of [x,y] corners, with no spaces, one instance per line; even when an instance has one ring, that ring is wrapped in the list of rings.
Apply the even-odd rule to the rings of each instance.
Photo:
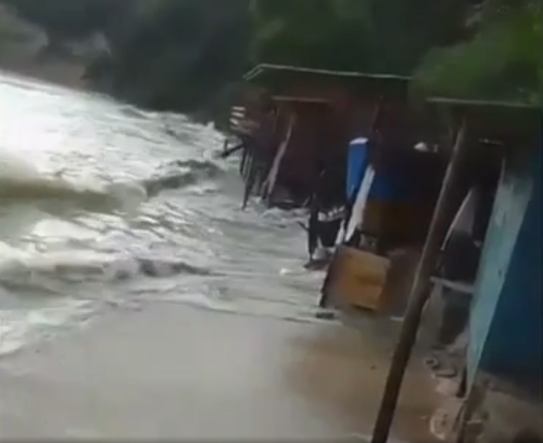
[[[450,97],[541,103],[543,4],[485,5],[469,41],[428,53],[416,72],[419,87]]]

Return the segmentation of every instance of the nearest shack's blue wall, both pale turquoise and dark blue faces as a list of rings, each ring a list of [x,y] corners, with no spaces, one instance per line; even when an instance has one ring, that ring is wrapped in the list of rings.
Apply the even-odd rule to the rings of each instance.
[[[469,384],[479,367],[512,375],[526,368],[538,370],[540,188],[541,150],[512,151],[502,171],[479,265],[470,315]]]

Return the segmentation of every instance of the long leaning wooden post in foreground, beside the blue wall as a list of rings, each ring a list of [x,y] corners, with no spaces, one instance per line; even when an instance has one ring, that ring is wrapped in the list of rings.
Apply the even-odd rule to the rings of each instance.
[[[432,223],[426,243],[422,250],[422,256],[409,294],[409,305],[405,319],[403,320],[400,339],[396,345],[392,364],[387,378],[387,384],[384,388],[381,407],[375,422],[374,433],[371,443],[386,443],[390,433],[390,427],[394,418],[396,404],[403,381],[403,376],[411,357],[413,345],[416,340],[416,333],[419,328],[422,309],[430,295],[430,276],[434,270],[435,261],[439,256],[443,238],[447,232],[447,227],[454,216],[453,193],[458,185],[459,169],[463,160],[464,140],[466,135],[466,124],[462,123],[456,143],[447,167],[443,186],[439,194],[439,199],[435,207]]]

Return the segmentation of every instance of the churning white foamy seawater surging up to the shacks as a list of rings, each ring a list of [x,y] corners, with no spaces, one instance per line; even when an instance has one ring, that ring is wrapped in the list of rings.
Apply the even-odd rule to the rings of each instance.
[[[0,355],[161,301],[318,321],[305,214],[242,211],[222,143],[183,115],[0,76]]]

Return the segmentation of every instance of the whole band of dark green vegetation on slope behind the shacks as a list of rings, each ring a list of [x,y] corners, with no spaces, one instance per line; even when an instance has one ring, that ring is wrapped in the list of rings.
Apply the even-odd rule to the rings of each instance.
[[[102,31],[86,78],[157,109],[217,111],[258,62],[414,74],[428,93],[540,102],[540,0],[0,0],[50,45]]]

